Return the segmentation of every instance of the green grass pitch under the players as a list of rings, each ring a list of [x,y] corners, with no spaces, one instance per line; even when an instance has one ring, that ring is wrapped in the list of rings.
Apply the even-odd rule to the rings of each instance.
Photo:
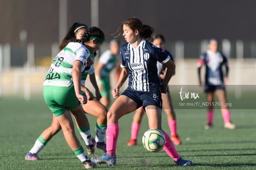
[[[174,96],[175,97],[175,96]],[[25,161],[25,154],[36,138],[51,123],[52,114],[42,96],[33,96],[24,101],[19,96],[0,99],[0,169],[83,169],[68,147],[62,132],[59,132],[39,153],[40,161]],[[177,131],[182,145],[176,146],[179,155],[194,161],[195,166],[180,167],[161,150],[146,151],[139,145],[127,147],[133,114],[119,121],[117,164],[98,169],[256,169],[256,109],[231,109],[232,120],[237,129],[223,129],[220,110],[216,109],[214,127],[203,129],[205,109],[176,109]],[[95,134],[95,117],[88,116],[92,134]],[[147,117],[139,139],[148,129]],[[166,116],[163,114],[163,129],[169,133]],[[84,143],[81,141],[84,145]],[[96,150],[95,156],[102,155]]]

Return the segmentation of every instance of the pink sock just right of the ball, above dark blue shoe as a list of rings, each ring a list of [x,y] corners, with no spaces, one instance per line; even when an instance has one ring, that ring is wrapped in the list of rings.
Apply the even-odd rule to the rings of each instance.
[[[165,145],[163,147],[163,150],[171,157],[174,159],[174,161],[177,161],[181,156],[176,151],[176,148],[173,145],[173,142],[171,142],[171,138],[169,137],[166,132],[164,132],[165,136]]]

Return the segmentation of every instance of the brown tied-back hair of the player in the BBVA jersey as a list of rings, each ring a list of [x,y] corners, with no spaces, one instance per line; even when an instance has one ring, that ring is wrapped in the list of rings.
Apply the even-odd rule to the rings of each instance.
[[[150,27],[150,25],[143,25],[141,20],[137,18],[130,18],[120,25],[117,30],[117,32],[119,32],[117,36],[122,34],[122,28],[124,25],[128,25],[133,31],[138,30],[139,35],[145,40],[150,40],[151,35],[154,32],[154,28]]]

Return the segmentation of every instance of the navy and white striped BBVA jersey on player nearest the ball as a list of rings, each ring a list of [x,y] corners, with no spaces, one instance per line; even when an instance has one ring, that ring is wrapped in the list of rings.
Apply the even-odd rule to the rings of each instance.
[[[156,62],[164,64],[170,59],[163,49],[142,40],[137,48],[130,43],[122,45],[121,56],[121,67],[129,69],[128,88],[145,92],[160,88]]]

